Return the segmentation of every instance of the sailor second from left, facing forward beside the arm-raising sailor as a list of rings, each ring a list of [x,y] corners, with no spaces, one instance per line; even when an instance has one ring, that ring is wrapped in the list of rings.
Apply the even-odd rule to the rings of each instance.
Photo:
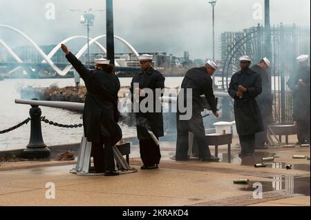
[[[135,105],[135,101],[138,101],[138,104],[146,99],[147,97],[139,97],[139,100],[134,100],[134,83],[139,83],[138,90],[142,92],[144,89],[149,88],[153,91],[153,97],[151,101],[153,101],[153,110],[142,112],[139,109],[135,112],[136,119],[136,128],[138,139],[140,140],[140,157],[142,159],[142,169],[155,169],[158,168],[158,164],[160,163],[161,154],[160,154],[160,146],[151,139],[151,135],[148,130],[153,132],[156,136],[156,139],[162,137],[164,135],[163,131],[163,115],[162,115],[162,107],[160,97],[163,95],[162,92],[157,92],[156,90],[164,89],[164,81],[165,78],[163,75],[152,68],[152,55],[144,54],[140,56],[140,68],[141,72],[135,74],[131,81],[131,99],[133,105]],[[148,95],[147,95],[148,96]],[[150,103],[149,103],[150,104]],[[160,106],[158,111],[156,110],[156,106]]]

